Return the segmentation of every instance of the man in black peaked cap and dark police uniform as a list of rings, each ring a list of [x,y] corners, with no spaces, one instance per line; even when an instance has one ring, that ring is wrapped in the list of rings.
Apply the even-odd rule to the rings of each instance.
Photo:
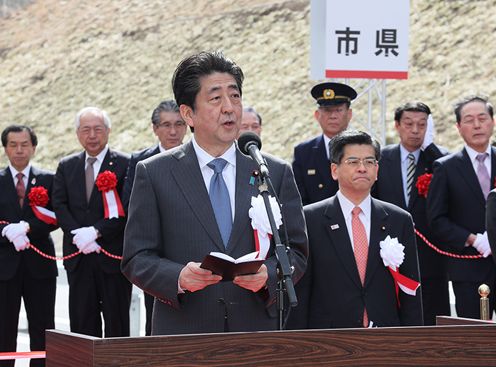
[[[293,171],[303,205],[333,196],[338,183],[330,173],[330,141],[348,128],[352,117],[351,101],[356,91],[341,83],[320,83],[312,88],[318,108],[314,117],[322,135],[298,144],[294,149]]]

